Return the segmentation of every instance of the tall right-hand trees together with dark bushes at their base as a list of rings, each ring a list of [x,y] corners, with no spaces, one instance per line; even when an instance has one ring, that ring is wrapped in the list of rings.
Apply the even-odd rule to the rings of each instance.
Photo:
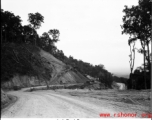
[[[123,12],[122,34],[129,34],[128,44],[130,46],[130,78],[129,89],[150,89],[151,84],[151,1],[139,0],[137,6],[125,6]],[[136,42],[141,43],[141,48],[136,48]],[[134,70],[136,51],[143,54],[143,65]]]

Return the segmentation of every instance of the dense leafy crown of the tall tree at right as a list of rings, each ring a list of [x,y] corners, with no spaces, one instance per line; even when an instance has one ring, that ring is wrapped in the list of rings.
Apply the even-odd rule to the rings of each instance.
[[[123,10],[122,33],[138,39],[150,39],[151,36],[151,3],[150,0],[139,0],[139,5]]]

